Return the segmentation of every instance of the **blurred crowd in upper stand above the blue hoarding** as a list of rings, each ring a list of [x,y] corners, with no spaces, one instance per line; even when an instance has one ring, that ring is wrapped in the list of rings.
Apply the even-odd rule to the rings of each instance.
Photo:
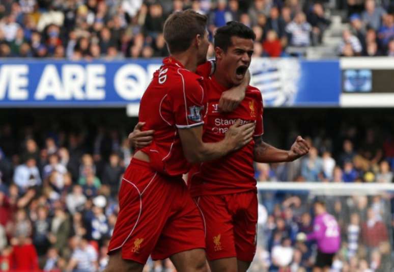
[[[394,9],[389,1],[336,1],[351,28],[341,56],[394,56]],[[256,33],[255,56],[298,56],[322,43],[330,25],[327,1],[303,0],[4,0],[0,4],[0,57],[71,60],[167,56],[168,14],[191,8],[209,17],[209,32],[238,20]],[[288,52],[287,48],[293,47]],[[301,50],[302,51],[302,50]],[[209,48],[213,56],[213,46]]]

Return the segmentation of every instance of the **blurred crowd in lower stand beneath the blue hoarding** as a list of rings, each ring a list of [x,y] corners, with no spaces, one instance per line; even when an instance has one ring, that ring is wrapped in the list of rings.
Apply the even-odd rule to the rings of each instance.
[[[66,125],[50,122],[17,131],[10,124],[0,127],[0,270],[105,267],[118,212],[118,187],[132,150],[127,133],[119,127],[86,126],[93,132],[62,130]],[[268,120],[266,126],[271,126]],[[256,165],[256,178],[261,182],[392,182],[394,140],[378,139],[372,129],[343,127],[337,139],[312,133],[306,139],[314,148],[303,159]],[[277,138],[274,129],[269,134]],[[290,141],[294,133],[286,134]],[[342,229],[342,250],[334,263],[337,271],[388,271],[394,226],[391,197],[323,200]],[[296,235],[312,231],[312,201],[307,192],[260,193],[259,247],[252,271],[309,271],[316,249],[313,243],[297,241]],[[149,261],[146,267],[146,271],[171,269],[168,260]]]

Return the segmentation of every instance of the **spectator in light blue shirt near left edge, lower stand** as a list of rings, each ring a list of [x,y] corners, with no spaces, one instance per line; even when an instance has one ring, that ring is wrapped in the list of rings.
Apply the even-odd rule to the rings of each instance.
[[[40,172],[34,157],[27,158],[25,164],[16,167],[14,182],[22,192],[28,187],[41,184]]]

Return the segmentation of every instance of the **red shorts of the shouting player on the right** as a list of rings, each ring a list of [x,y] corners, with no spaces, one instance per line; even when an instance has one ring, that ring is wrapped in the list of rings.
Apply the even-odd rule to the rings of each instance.
[[[195,201],[206,225],[208,260],[236,257],[251,262],[257,241],[256,192],[204,195]]]

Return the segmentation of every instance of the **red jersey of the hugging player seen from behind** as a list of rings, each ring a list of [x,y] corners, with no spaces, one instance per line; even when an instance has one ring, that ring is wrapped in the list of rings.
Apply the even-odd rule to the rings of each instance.
[[[204,71],[210,69],[210,64]],[[206,95],[204,77],[187,69],[174,58],[165,58],[145,91],[139,106],[144,130],[154,129],[153,142],[142,149],[149,154],[151,167],[176,176],[190,170],[177,129],[204,124]]]

